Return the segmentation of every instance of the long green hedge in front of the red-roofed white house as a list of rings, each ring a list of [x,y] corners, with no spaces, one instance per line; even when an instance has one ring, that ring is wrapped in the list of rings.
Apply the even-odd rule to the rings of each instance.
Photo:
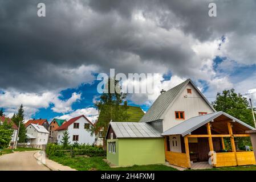
[[[60,151],[60,150],[72,150],[71,156],[76,155],[87,155],[90,157],[96,157],[96,156],[106,156],[106,151],[103,150],[102,147],[97,146],[91,146],[89,144],[78,144],[74,143],[71,145],[68,145],[67,147],[63,147],[56,144],[47,144],[46,146],[46,154],[48,156],[64,156],[67,153],[70,153],[69,151]]]

